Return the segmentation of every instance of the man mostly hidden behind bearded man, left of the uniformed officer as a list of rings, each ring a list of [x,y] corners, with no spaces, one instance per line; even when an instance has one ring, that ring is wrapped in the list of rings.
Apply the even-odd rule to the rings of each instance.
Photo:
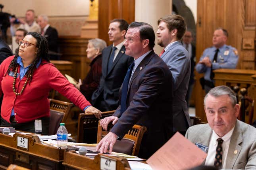
[[[191,62],[191,72],[190,72],[190,77],[189,77],[189,87],[186,95],[186,102],[187,106],[189,108],[189,100],[191,97],[191,93],[193,91],[194,87],[194,66],[196,65],[196,47],[192,45],[192,32],[187,30],[183,36],[183,46],[187,49],[189,52],[189,58]]]

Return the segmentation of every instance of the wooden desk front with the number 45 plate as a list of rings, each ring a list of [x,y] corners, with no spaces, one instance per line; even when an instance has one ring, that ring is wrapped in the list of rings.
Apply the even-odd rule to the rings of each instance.
[[[28,139],[28,149],[17,147],[18,136]],[[32,170],[62,170],[63,154],[63,149],[41,144],[35,134],[16,133],[12,137],[0,133],[0,170],[10,164]]]

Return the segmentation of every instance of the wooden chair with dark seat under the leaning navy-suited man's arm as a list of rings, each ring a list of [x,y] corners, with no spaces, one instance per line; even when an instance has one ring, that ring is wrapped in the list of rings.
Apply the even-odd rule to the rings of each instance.
[[[109,124],[108,129],[110,130],[109,127],[113,127],[112,124]],[[108,134],[108,131],[105,131],[102,129],[100,126],[100,122],[98,124],[98,136],[97,136],[97,143],[100,142],[104,136]],[[114,152],[119,152],[119,153],[125,153],[127,155],[139,155],[139,150],[141,147],[141,140],[143,137],[144,132],[146,132],[147,128],[144,126],[140,125],[134,125],[128,132],[125,134],[123,139],[121,140],[116,140],[114,146],[113,146],[113,151]]]

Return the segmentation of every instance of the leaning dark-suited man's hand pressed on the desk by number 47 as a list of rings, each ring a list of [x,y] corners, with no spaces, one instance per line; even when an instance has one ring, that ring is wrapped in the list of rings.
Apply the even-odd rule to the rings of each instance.
[[[113,146],[116,142],[117,135],[114,134],[113,132],[109,132],[98,145],[96,146],[96,151],[100,153],[106,153],[108,151],[109,147],[109,153],[112,152]]]

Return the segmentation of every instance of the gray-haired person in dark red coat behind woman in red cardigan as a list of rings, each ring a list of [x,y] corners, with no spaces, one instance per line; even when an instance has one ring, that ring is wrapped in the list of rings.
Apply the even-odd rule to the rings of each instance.
[[[102,64],[101,52],[106,46],[106,42],[99,38],[89,40],[87,45],[87,58],[92,61],[90,63],[91,68],[85,79],[83,79],[83,83],[81,79],[79,79],[79,83],[77,83],[75,87],[77,87],[89,101],[92,98],[92,93],[97,89],[100,83]]]

